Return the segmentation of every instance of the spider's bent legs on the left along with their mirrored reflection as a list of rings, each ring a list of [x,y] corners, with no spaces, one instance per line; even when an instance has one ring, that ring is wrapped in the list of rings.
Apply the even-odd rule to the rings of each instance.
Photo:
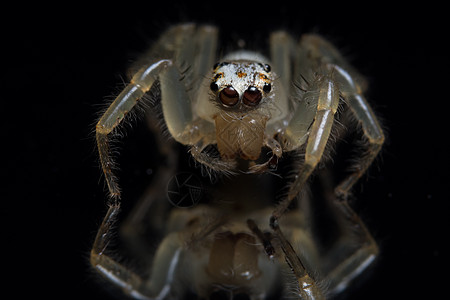
[[[199,61],[197,68],[189,69],[199,77],[209,70],[215,55],[217,30],[210,26],[180,25],[170,28],[151,49],[150,58],[165,55],[165,58],[153,59],[144,64],[132,77],[130,84],[117,96],[96,126],[97,146],[100,161],[109,189],[111,201],[108,211],[97,232],[91,250],[91,265],[107,280],[121,287],[125,293],[137,299],[164,299],[171,290],[175,269],[182,254],[182,245],[176,235],[167,236],[155,254],[151,280],[147,281],[127,269],[106,254],[111,240],[112,226],[120,211],[120,189],[113,173],[113,160],[110,156],[108,135],[119,126],[126,114],[148,92],[156,80],[159,80],[162,94],[162,109],[174,139],[181,143],[190,141],[190,132],[186,128],[192,122],[191,102],[186,91],[186,82],[180,70],[194,65],[194,54],[206,57]],[[196,47],[201,45],[200,47]],[[196,48],[194,48],[196,47]],[[197,51],[197,53],[195,53]],[[201,75],[200,75],[201,74]],[[144,201],[143,205],[149,202]],[[165,276],[161,276],[165,274]],[[145,295],[156,295],[149,298]]]

